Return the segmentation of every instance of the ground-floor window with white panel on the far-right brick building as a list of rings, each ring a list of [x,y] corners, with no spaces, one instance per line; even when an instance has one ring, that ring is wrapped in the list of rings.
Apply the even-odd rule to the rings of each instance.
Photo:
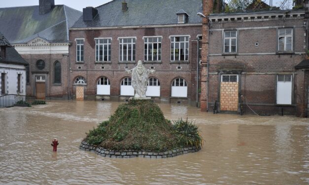
[[[277,104],[292,104],[292,75],[278,74],[277,75]]]

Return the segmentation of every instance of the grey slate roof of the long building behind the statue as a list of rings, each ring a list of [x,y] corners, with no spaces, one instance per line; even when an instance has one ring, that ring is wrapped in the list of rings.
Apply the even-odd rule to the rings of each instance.
[[[127,11],[122,11],[122,2],[113,0],[98,6],[93,21],[83,21],[81,16],[72,28],[177,24],[179,10],[189,15],[186,24],[202,23],[197,15],[203,12],[202,0],[126,0]]]

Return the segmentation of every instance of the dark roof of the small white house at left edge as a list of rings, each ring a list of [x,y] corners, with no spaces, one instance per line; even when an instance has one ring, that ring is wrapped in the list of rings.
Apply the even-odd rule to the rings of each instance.
[[[0,32],[0,43],[7,42],[9,45],[10,43],[6,40],[6,38],[3,36],[3,34]],[[2,45],[3,46],[3,45]],[[23,64],[27,65],[28,62],[26,62],[19,53],[15,50],[14,47],[5,45],[5,59],[2,59],[0,57],[0,62],[5,63],[15,63],[15,64]]]

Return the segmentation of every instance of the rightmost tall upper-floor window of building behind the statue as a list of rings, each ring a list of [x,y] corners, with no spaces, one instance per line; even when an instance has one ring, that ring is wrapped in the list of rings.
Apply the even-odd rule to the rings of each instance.
[[[190,36],[171,36],[171,61],[189,61]]]

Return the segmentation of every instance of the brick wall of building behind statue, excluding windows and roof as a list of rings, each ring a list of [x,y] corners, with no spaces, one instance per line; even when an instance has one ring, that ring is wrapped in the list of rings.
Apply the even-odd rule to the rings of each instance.
[[[110,81],[110,96],[104,96],[104,100],[124,100],[128,97],[120,96],[120,83],[123,78],[130,77],[131,74],[125,72],[126,66],[132,69],[137,61],[143,61],[146,68],[154,67],[156,72],[151,74],[160,81],[161,97],[155,98],[161,102],[188,102],[196,104],[197,95],[197,61],[198,61],[198,42],[197,35],[202,34],[202,25],[192,26],[171,26],[156,28],[127,28],[127,29],[71,29],[70,40],[70,82],[83,76],[87,80],[84,87],[85,99],[100,99],[96,96],[97,81],[100,77],[107,77]],[[171,35],[190,35],[189,41],[189,62],[171,62]],[[144,62],[144,40],[143,36],[162,36],[162,60],[161,62]],[[136,61],[119,62],[119,40],[118,37],[136,37]],[[84,62],[76,62],[76,38],[84,39]],[[111,62],[95,62],[95,38],[112,38],[111,40]],[[181,66],[181,69],[177,69]],[[102,69],[104,67],[104,69]],[[175,78],[183,78],[188,85],[187,98],[172,98],[171,86]],[[71,86],[74,96],[75,86]],[[97,98],[96,98],[97,97]],[[99,97],[99,98],[98,98]]]

